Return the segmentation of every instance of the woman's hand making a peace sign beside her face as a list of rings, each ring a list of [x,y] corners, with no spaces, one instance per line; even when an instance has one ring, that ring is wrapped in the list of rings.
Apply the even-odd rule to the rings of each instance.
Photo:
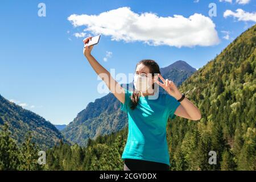
[[[179,100],[182,97],[182,94],[180,93],[179,89],[177,89],[177,86],[174,84],[174,82],[171,80],[168,80],[168,79],[164,80],[164,78],[160,74],[158,74],[158,76],[159,76],[160,80],[163,81],[163,83],[158,81],[157,77],[154,78],[154,81],[158,85],[162,86],[162,88],[164,90],[166,90],[166,92],[168,94],[170,94],[172,97],[176,98],[176,100]]]

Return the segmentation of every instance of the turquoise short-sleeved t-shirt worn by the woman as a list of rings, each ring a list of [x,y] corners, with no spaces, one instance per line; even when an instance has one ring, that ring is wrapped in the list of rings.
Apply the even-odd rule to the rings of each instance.
[[[132,110],[131,94],[133,92],[125,89],[125,103],[121,102],[121,110],[128,114],[128,137],[121,159],[141,159],[170,166],[166,126],[169,117],[176,117],[174,112],[180,102],[170,94],[159,94],[155,100],[139,97],[137,107]]]

